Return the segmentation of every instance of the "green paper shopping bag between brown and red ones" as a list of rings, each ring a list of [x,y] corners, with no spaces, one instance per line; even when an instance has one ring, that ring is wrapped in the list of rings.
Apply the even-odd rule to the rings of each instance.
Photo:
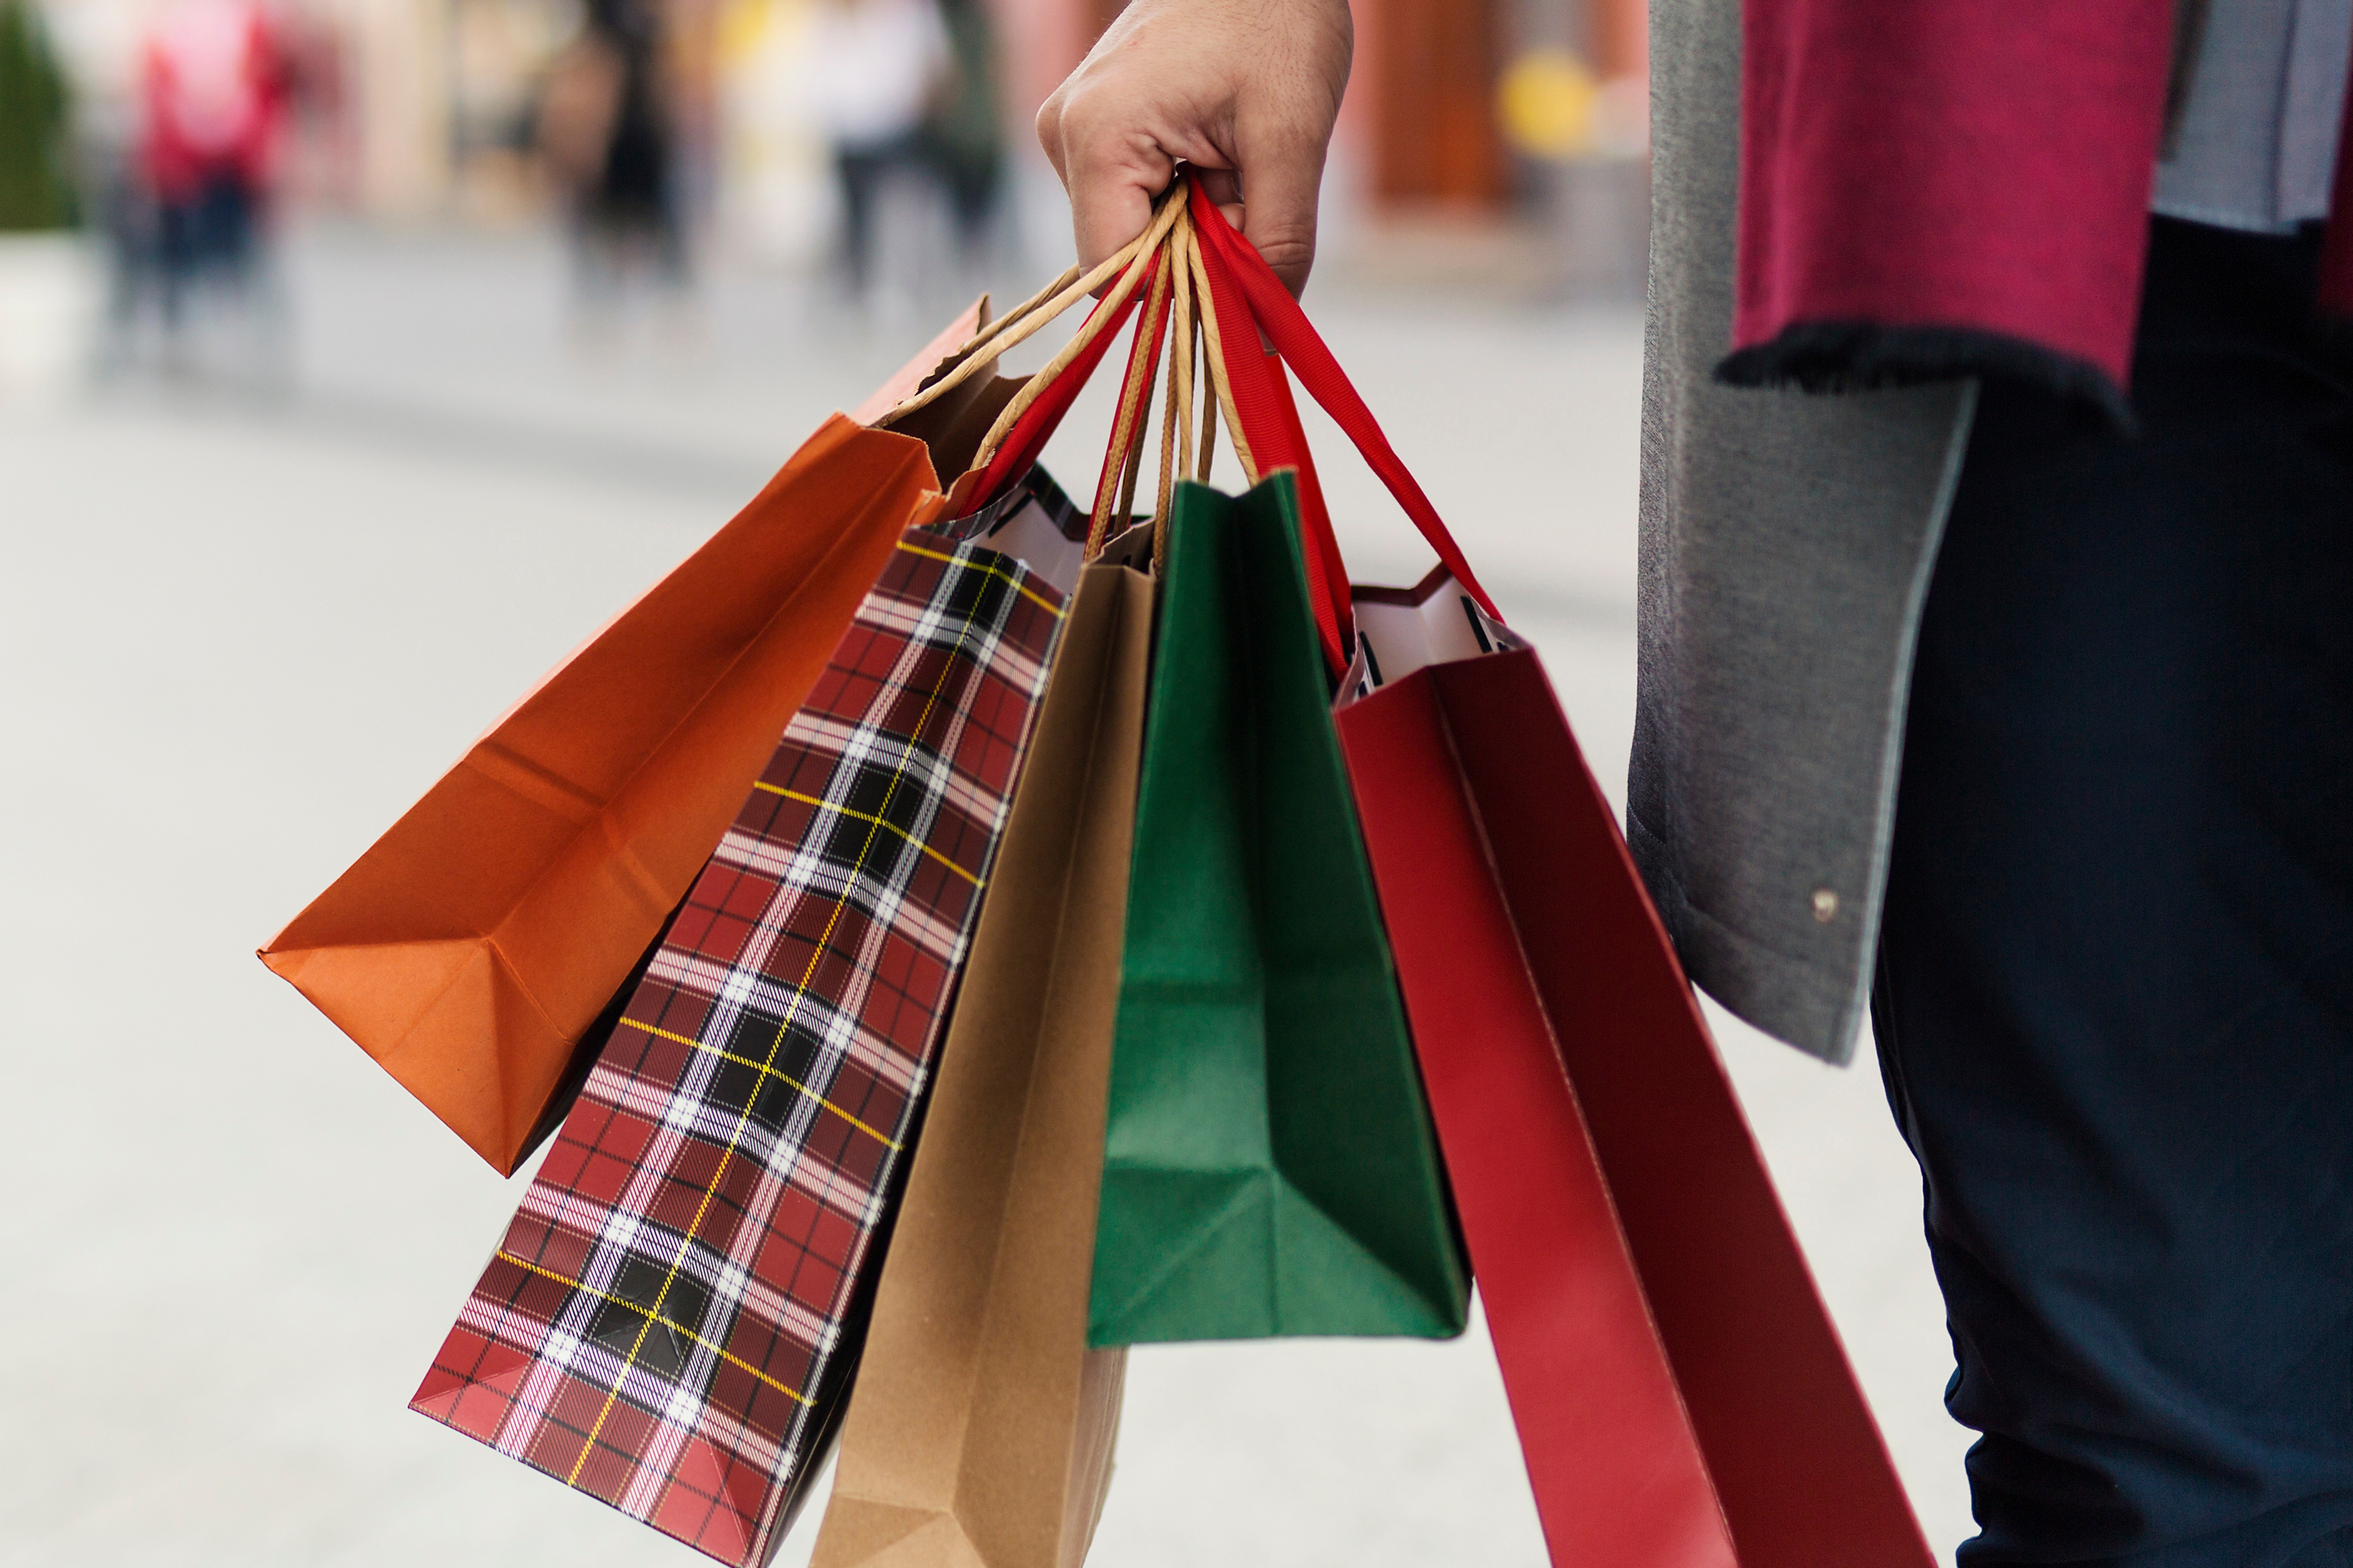
[[[1179,484],[1160,595],[1087,1340],[1461,1333],[1292,475]]]

